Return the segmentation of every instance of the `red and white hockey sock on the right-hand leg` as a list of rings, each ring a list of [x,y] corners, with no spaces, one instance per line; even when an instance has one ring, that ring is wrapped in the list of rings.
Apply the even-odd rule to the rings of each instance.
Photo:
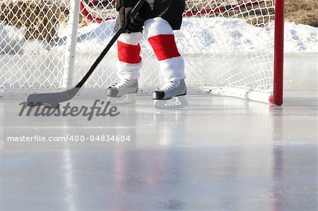
[[[184,74],[184,60],[179,54],[175,35],[169,23],[163,18],[145,21],[146,35],[159,60],[160,70],[166,81],[181,80]]]

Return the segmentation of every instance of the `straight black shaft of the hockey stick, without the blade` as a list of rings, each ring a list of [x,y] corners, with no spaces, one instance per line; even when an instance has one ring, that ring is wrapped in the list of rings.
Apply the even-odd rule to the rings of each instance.
[[[138,3],[136,4],[136,6],[134,6],[134,8],[132,9],[131,13],[129,14],[129,17],[134,17],[136,15],[136,13],[138,13],[139,9],[141,8],[141,6],[143,6],[143,3],[145,3],[146,0],[140,0],[138,1]],[[102,53],[100,54],[100,56],[98,56],[98,59],[96,59],[96,61],[94,62],[94,64],[90,67],[89,71],[86,73],[86,75],[82,78],[82,80],[75,86],[76,88],[81,88],[84,83],[86,83],[86,80],[88,80],[88,78],[90,77],[90,75],[93,73],[93,71],[95,71],[95,68],[98,66],[98,64],[100,64],[100,61],[102,61],[102,59],[105,57],[105,55],[107,54],[107,52],[110,51],[110,48],[112,47],[112,45],[114,44],[114,42],[116,42],[116,40],[118,39],[118,37],[122,34],[122,32],[124,32],[125,28],[120,28],[118,30],[118,32],[116,32],[116,34],[114,35],[114,37],[112,37],[112,40],[110,40],[110,42],[107,44],[107,46],[105,47],[105,49],[102,51]]]

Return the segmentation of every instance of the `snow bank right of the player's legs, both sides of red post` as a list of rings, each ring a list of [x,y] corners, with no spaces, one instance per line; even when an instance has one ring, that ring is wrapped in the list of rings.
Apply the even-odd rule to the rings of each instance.
[[[235,18],[211,18],[209,21],[204,18],[194,21],[192,18],[184,20],[182,27],[180,32],[192,47],[216,48],[216,52],[271,50],[273,43],[273,24],[268,28],[258,28]],[[318,28],[310,25],[286,22],[285,53],[318,52],[317,33]]]

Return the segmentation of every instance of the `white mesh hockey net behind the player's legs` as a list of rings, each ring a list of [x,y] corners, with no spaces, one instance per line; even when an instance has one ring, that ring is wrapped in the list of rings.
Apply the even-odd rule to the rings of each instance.
[[[185,60],[189,94],[246,97],[257,92],[264,98],[259,101],[268,102],[273,93],[275,1],[186,2],[182,29],[175,36]],[[71,4],[1,1],[0,98],[65,89],[85,75],[113,35],[116,3],[83,0],[78,13]],[[71,30],[74,25],[78,30]],[[75,61],[70,64],[74,43]],[[163,77],[146,39],[141,47],[139,95],[148,95]],[[117,78],[116,57],[113,47],[86,82],[86,90],[102,90]]]

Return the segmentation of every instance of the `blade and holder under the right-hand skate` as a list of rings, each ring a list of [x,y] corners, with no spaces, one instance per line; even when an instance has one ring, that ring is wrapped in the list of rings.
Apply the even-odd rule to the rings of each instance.
[[[154,100],[153,106],[156,109],[181,109],[188,106],[185,96],[173,97],[170,100]]]

